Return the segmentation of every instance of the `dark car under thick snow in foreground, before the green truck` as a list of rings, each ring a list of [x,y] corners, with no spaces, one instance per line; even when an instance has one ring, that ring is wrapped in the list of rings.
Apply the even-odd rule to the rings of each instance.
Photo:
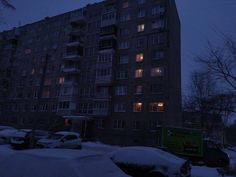
[[[111,160],[133,177],[190,177],[190,162],[151,147],[122,147],[110,154]]]

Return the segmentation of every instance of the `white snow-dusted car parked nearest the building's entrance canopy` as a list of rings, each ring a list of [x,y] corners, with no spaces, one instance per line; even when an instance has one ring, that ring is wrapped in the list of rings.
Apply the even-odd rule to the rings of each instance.
[[[42,148],[78,148],[82,143],[79,133],[60,131],[52,134],[48,138],[37,142],[37,147]]]

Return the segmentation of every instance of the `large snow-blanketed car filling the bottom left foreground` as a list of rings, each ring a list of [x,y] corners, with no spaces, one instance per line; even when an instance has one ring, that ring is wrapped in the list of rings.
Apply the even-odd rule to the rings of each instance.
[[[1,150],[6,152],[2,153]],[[92,151],[72,149],[32,149],[13,153],[7,151],[0,147],[0,157],[4,154],[4,157],[0,158],[1,177],[130,177],[107,156]]]

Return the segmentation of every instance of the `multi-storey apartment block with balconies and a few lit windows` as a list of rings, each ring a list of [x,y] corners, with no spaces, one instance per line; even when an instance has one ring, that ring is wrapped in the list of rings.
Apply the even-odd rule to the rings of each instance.
[[[157,126],[181,126],[173,0],[106,0],[0,36],[11,73],[1,121],[61,116],[85,138],[126,145],[155,145]]]

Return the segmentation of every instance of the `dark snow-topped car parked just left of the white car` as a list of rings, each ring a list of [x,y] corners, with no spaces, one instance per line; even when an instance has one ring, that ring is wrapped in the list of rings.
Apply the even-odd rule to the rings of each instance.
[[[14,149],[27,149],[30,145],[30,136],[32,129],[21,129],[14,133],[10,140],[11,146]],[[48,133],[43,130],[34,130],[34,143],[39,139],[48,137]]]

